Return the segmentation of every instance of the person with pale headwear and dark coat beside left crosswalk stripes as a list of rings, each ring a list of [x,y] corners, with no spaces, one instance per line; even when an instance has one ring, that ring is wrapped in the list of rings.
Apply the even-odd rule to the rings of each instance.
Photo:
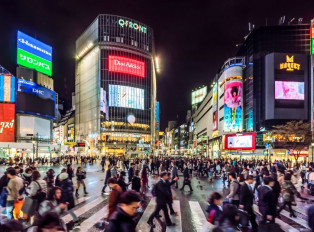
[[[59,175],[59,179],[61,181],[60,188],[62,190],[61,202],[64,204],[67,204],[68,212],[73,218],[74,228],[78,228],[79,227],[78,217],[72,210],[75,207],[75,202],[74,202],[74,197],[73,197],[74,187],[73,187],[72,179],[69,178],[69,174],[66,172],[61,173]]]

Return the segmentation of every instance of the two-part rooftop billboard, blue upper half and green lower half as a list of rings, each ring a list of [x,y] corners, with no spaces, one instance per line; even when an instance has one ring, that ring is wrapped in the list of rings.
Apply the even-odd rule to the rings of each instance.
[[[17,63],[51,76],[52,47],[18,31]]]

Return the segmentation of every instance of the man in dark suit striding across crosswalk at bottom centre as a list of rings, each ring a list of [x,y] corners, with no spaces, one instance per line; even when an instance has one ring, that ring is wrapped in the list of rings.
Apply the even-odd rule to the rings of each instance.
[[[167,226],[175,226],[175,223],[172,223],[169,217],[167,204],[170,201],[171,195],[168,191],[168,184],[167,180],[169,179],[169,176],[167,172],[162,172],[160,174],[160,180],[159,182],[154,186],[154,194],[156,195],[156,208],[155,211],[150,215],[148,218],[147,223],[151,226],[151,228],[154,228],[155,225],[153,223],[153,219],[159,215],[159,211],[163,210],[164,216],[166,219],[166,225]]]

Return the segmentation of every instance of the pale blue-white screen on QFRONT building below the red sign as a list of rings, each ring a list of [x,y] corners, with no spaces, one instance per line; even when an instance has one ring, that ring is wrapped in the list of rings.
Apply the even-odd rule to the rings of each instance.
[[[109,106],[144,110],[144,89],[109,85]]]

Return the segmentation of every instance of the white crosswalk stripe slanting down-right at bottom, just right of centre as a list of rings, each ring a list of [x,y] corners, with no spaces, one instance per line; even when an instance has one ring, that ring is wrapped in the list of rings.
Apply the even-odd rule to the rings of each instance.
[[[198,201],[189,201],[191,214],[192,214],[192,222],[195,226],[196,231],[203,231],[204,226],[208,225],[205,214],[200,206]],[[210,229],[213,229],[215,226],[213,224],[208,225]]]

